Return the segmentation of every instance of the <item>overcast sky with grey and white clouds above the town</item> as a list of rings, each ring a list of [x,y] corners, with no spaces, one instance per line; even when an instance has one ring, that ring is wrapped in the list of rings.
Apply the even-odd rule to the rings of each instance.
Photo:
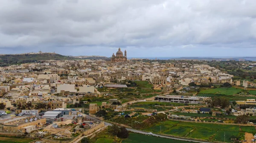
[[[0,0],[0,53],[256,56],[256,0]]]

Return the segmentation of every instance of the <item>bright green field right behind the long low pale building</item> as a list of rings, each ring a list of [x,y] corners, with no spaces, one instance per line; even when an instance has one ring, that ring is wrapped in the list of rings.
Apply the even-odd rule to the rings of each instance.
[[[199,93],[216,94],[216,95],[233,95],[233,94],[239,93],[240,91],[241,89],[236,89],[235,87],[230,87],[230,88],[218,87],[214,89],[201,90]]]

